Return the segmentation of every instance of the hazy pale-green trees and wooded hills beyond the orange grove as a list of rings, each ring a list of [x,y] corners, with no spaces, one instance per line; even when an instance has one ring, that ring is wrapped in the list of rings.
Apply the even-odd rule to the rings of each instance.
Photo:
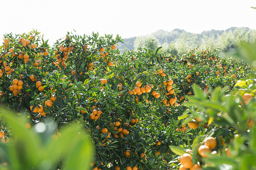
[[[160,29],[147,36],[131,37],[124,39],[125,43],[119,44],[122,51],[127,48],[138,50],[139,48],[149,48],[155,50],[158,46],[163,46],[163,50],[176,56],[180,56],[191,48],[199,45],[200,49],[212,48],[217,50],[228,50],[236,46],[240,41],[254,42],[256,30],[246,27],[231,27],[224,30],[210,30],[202,33],[190,33],[181,29],[164,31]]]

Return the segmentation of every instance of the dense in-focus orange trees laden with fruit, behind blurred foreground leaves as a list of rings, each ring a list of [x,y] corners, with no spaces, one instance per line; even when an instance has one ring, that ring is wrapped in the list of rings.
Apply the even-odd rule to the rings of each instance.
[[[168,164],[177,158],[169,146],[192,145],[199,118],[205,121],[181,121],[190,111],[184,102],[192,85],[205,94],[217,86],[232,89],[250,66],[209,49],[181,58],[160,48],[120,53],[120,41],[67,33],[51,47],[36,31],[5,35],[0,102],[29,113],[33,124],[50,117],[58,127],[84,121],[96,147],[93,169],[175,168]]]

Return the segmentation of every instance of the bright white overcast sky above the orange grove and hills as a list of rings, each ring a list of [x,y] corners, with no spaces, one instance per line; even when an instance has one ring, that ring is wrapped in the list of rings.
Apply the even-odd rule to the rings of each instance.
[[[5,33],[38,29],[49,42],[67,31],[123,38],[175,28],[201,33],[210,29],[256,29],[255,0],[2,0],[0,39]]]

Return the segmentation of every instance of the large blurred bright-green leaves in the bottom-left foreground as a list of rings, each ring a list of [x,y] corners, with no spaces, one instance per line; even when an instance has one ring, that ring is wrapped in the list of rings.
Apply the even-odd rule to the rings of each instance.
[[[13,137],[11,143],[0,143],[1,169],[90,169],[94,151],[81,124],[56,131],[50,120],[31,127],[26,117],[15,116],[9,109],[0,108],[0,113]]]

